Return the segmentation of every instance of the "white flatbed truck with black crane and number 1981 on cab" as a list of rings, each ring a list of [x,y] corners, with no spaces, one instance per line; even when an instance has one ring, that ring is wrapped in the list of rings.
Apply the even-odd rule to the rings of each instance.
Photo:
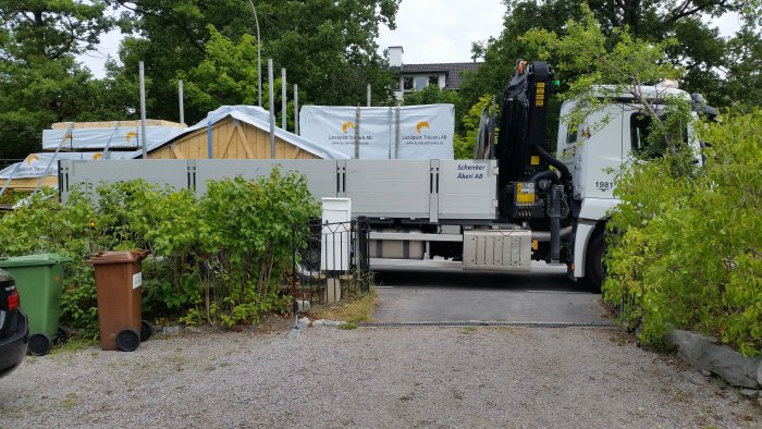
[[[204,194],[208,180],[256,177],[280,166],[304,173],[318,201],[352,199],[353,217],[370,225],[371,268],[530,271],[532,260],[544,260],[600,287],[615,171],[642,149],[648,124],[625,97],[588,118],[593,124],[606,117],[594,133],[562,121],[555,158],[545,139],[552,85],[546,63],[519,63],[505,88],[499,142],[483,140],[477,150],[486,159],[61,161],[61,199],[76,183],[135,177]],[[564,103],[561,114],[573,107]]]

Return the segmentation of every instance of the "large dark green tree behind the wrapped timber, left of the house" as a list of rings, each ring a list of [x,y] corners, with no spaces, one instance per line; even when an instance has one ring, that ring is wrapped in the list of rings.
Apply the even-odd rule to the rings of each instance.
[[[377,53],[379,25],[394,27],[398,0],[112,0],[126,10],[126,39],[120,52],[122,73],[135,74],[137,61],[146,62],[151,76],[151,115],[175,118],[179,72],[188,72],[207,57],[209,25],[234,44],[244,35],[256,37],[253,4],[259,19],[262,73],[267,58],[287,70],[287,79],[299,85],[306,102],[355,105],[365,99],[366,85],[374,100],[391,100],[392,79]],[[248,76],[256,87],[256,75]],[[220,100],[223,102],[223,100]],[[206,114],[190,106],[188,122]]]

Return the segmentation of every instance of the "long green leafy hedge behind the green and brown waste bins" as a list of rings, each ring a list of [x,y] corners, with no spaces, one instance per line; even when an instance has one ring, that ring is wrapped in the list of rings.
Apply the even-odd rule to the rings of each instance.
[[[57,252],[66,265],[63,326],[97,335],[93,268],[87,259],[107,249],[145,248],[144,317],[232,327],[259,316],[287,311],[281,293],[291,269],[292,233],[303,243],[307,222],[318,213],[302,175],[209,182],[199,199],[187,191],[144,181],[75,192],[59,204],[39,193],[28,207],[0,219],[4,256]],[[294,228],[294,225],[304,225]]]

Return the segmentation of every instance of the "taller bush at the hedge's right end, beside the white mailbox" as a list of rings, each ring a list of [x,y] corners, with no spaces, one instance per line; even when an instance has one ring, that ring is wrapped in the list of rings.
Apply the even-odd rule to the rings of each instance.
[[[291,269],[292,234],[302,243],[318,206],[303,175],[210,182],[201,198],[201,245],[214,275],[205,285],[207,319],[232,326],[285,312],[280,284]],[[199,316],[199,315],[197,315]]]

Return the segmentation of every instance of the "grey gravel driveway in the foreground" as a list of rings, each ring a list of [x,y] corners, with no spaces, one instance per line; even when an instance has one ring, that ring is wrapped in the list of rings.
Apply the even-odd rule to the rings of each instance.
[[[27,359],[0,427],[760,427],[755,401],[601,328],[183,333]]]

